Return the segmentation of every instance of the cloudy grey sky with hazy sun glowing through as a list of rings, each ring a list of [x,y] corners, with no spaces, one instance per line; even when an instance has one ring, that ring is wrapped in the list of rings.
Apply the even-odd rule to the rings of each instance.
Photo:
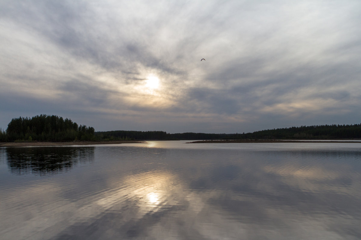
[[[359,124],[360,26],[359,0],[1,0],[0,127]]]

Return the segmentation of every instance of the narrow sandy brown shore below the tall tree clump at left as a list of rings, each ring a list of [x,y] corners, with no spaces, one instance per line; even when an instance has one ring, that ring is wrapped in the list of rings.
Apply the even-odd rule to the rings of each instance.
[[[69,145],[95,145],[95,144],[123,144],[145,143],[145,141],[81,141],[81,142],[0,142],[0,147],[29,147],[29,146],[69,146]]]

